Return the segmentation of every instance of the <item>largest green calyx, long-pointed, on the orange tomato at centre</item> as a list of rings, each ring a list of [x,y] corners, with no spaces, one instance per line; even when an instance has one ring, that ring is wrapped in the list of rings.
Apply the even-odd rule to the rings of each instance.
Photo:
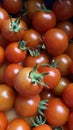
[[[44,73],[38,74],[38,73],[36,73],[36,70],[37,70],[37,64],[34,66],[33,70],[32,70],[32,71],[30,72],[30,74],[29,74],[32,83],[33,83],[33,84],[34,84],[34,83],[38,83],[38,84],[40,84],[40,85],[42,85],[42,86],[48,87],[48,86],[42,81],[43,77],[44,77],[45,75],[47,75],[48,73],[44,72]]]

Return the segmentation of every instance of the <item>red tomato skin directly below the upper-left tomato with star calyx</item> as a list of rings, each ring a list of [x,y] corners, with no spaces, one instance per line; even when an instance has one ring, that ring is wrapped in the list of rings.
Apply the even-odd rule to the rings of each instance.
[[[12,42],[5,48],[5,57],[10,63],[19,63],[24,61],[27,51],[19,48],[18,42]]]

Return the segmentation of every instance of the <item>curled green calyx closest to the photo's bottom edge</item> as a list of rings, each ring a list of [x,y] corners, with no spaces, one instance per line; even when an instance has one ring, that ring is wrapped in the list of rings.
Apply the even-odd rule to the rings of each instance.
[[[46,118],[43,119],[41,115],[36,116],[36,117],[35,117],[35,120],[36,120],[36,121],[34,121],[34,120],[31,118],[32,126],[33,126],[33,127],[36,127],[36,126],[45,124],[45,122],[46,122]]]

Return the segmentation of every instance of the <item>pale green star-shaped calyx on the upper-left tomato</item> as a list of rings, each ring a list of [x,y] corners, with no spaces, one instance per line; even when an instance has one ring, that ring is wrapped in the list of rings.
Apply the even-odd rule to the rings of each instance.
[[[20,26],[20,17],[16,18],[14,21],[10,18],[10,31],[18,32],[20,30],[24,30],[24,28]]]

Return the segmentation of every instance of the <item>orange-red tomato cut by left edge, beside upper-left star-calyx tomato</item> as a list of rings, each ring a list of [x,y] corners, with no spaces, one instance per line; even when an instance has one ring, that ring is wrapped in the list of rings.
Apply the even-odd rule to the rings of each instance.
[[[6,19],[9,19],[9,14],[4,8],[0,7],[0,30],[1,30],[3,21]]]

